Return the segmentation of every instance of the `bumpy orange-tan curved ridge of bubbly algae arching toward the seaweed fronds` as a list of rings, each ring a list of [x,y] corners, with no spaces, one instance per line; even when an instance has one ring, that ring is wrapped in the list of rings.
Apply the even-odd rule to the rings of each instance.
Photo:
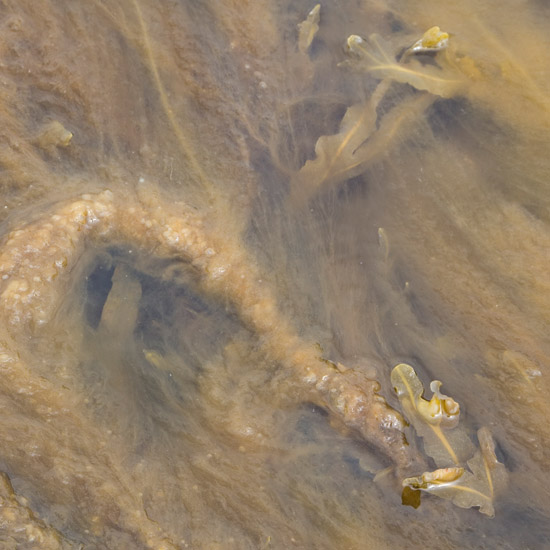
[[[320,357],[302,339],[263,284],[256,262],[235,234],[210,235],[185,204],[117,198],[110,191],[83,195],[6,238],[0,255],[0,297],[6,326],[21,337],[48,323],[70,273],[91,242],[130,243],[155,256],[178,257],[199,272],[205,292],[228,301],[269,356],[291,370],[299,393],[359,432],[398,467],[411,461],[401,415],[378,395],[379,384]]]

